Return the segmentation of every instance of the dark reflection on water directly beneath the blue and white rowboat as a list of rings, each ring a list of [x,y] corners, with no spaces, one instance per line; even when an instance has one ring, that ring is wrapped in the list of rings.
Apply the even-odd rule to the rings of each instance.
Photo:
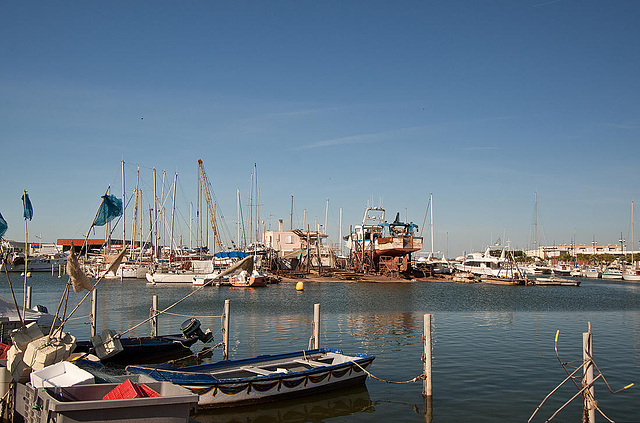
[[[302,423],[372,411],[367,388],[354,386],[274,403],[200,410],[193,418],[202,423]]]

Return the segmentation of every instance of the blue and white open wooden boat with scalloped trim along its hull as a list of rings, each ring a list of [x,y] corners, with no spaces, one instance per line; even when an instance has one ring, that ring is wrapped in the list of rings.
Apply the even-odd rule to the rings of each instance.
[[[321,348],[181,368],[131,365],[126,370],[187,388],[199,395],[200,406],[230,407],[364,384],[365,369],[374,358]]]

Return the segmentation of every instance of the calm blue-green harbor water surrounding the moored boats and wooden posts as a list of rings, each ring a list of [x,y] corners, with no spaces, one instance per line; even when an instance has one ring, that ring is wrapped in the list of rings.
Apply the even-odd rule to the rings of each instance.
[[[0,295],[11,294],[2,275]],[[22,303],[22,278],[11,275]],[[66,279],[35,274],[33,304],[55,312]],[[144,281],[103,281],[98,286],[98,328],[123,331],[149,315],[152,295],[164,308],[195,288],[151,286]],[[83,294],[72,294],[75,306]],[[199,412],[202,422],[526,422],[566,374],[554,353],[556,330],[563,361],[582,359],[582,332],[591,322],[594,356],[611,387],[596,385],[600,409],[618,422],[640,422],[640,284],[584,279],[580,287],[510,287],[440,282],[305,283],[263,289],[207,287],[160,317],[161,333],[179,332],[186,316],[196,316],[221,340],[220,315],[231,301],[230,355],[305,349],[312,332],[313,304],[320,303],[321,346],[345,353],[367,352],[371,371],[386,380],[405,381],[422,372],[423,315],[433,315],[433,402],[425,405],[422,385],[386,384],[373,379],[366,389],[348,389],[241,411]],[[67,330],[89,336],[89,303]],[[149,325],[134,335],[149,333]],[[211,360],[221,359],[216,351]],[[576,388],[560,389],[538,412],[543,422]],[[575,404],[574,404],[575,403]],[[553,421],[579,422],[580,401]],[[605,421],[603,417],[599,421]]]

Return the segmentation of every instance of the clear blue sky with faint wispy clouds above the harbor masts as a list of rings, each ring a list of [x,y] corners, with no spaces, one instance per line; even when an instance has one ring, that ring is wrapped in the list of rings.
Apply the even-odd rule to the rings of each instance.
[[[306,209],[324,223],[328,198],[334,242],[341,207],[344,231],[368,202],[422,227],[430,193],[450,256],[530,245],[534,192],[542,243],[630,238],[638,1],[7,2],[0,15],[6,238],[24,238],[24,189],[30,240],[82,236],[106,186],[121,195],[124,160],[143,198],[151,168],[178,173],[184,240],[198,159],[232,234],[256,163],[265,226],[288,227],[292,195],[294,222]]]

